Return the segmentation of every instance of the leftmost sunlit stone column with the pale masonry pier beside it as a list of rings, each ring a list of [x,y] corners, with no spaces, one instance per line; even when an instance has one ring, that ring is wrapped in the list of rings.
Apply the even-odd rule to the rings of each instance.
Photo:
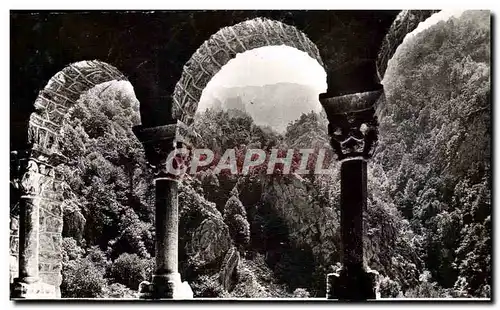
[[[62,212],[55,189],[57,182],[54,156],[33,149],[20,154],[18,159],[21,174],[18,182],[19,268],[18,277],[14,279],[11,287],[11,296],[34,299],[58,298],[62,280],[60,275]],[[46,229],[45,219],[49,217],[48,213],[52,213],[52,205],[55,205],[55,209],[59,212],[54,212],[57,214],[53,215],[51,228]],[[41,230],[44,232],[41,233]],[[46,231],[51,231],[49,238],[46,238]],[[42,235],[44,238],[41,238]],[[51,259],[45,259],[41,253],[48,253]],[[43,266],[48,266],[47,273],[50,277],[45,275],[41,277],[40,270],[47,271],[42,268]]]

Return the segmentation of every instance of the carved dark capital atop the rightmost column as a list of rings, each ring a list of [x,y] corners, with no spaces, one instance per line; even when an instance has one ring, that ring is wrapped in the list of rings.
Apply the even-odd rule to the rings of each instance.
[[[328,117],[330,143],[338,160],[369,159],[378,140],[378,120],[375,115],[379,90],[328,97],[320,94],[320,102]]]

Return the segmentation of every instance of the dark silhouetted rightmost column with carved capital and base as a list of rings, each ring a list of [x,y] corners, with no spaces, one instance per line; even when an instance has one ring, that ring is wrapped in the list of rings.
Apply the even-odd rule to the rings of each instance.
[[[328,120],[331,145],[341,162],[342,269],[327,276],[327,298],[375,299],[376,272],[368,271],[363,257],[363,213],[367,204],[367,161],[378,135],[378,89],[331,97],[320,95]]]

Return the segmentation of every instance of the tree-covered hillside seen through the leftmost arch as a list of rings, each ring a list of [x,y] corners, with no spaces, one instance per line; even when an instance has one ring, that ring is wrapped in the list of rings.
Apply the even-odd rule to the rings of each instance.
[[[154,266],[154,185],[123,83],[90,90],[63,124],[63,297],[133,296]]]

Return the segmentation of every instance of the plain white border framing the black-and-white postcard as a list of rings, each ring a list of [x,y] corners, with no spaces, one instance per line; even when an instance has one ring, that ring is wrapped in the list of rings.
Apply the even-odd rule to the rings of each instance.
[[[9,70],[6,68],[9,68],[10,65],[10,55],[9,55],[9,12],[8,10],[11,9],[85,9],[85,10],[91,10],[91,9],[97,9],[97,10],[115,10],[115,9],[125,9],[125,10],[138,10],[138,9],[490,9],[492,10],[493,14],[498,14],[500,10],[497,9],[498,3],[500,1],[487,1],[487,0],[474,0],[474,1],[465,1],[465,0],[446,0],[446,1],[437,1],[437,0],[419,0],[415,2],[405,2],[405,1],[387,1],[387,0],[378,0],[378,1],[317,1],[317,0],[307,0],[307,1],[270,1],[270,0],[252,0],[252,1],[239,1],[239,0],[233,0],[233,1],[221,1],[221,0],[210,0],[210,1],[192,1],[192,0],[182,0],[178,2],[173,2],[173,1],[165,1],[163,3],[159,3],[158,1],[151,1],[151,0],[135,0],[135,1],[102,1],[102,0],[86,0],[85,2],[82,3],[76,3],[73,1],[54,1],[54,0],[39,0],[39,1],[2,1],[0,5],[2,8],[5,7],[5,10],[2,10],[1,18],[2,18],[2,23],[1,25],[3,26],[1,29],[1,38],[2,42],[4,43],[3,48],[2,48],[2,59],[4,60],[4,70],[3,70],[3,75],[2,75],[2,91],[1,94],[4,96],[3,100],[3,105],[2,108],[5,109],[0,113],[1,117],[3,117],[3,121],[0,122],[2,126],[2,131],[1,131],[1,138],[2,138],[2,146],[4,149],[0,152],[0,163],[1,163],[1,175],[4,178],[4,181],[1,183],[3,186],[2,188],[2,199],[4,199],[4,208],[5,208],[5,216],[3,217],[4,219],[4,225],[5,225],[5,230],[7,231],[7,227],[9,226],[9,216],[7,215],[7,206],[8,206],[8,197],[9,197],[9,188],[8,182],[7,182],[7,175],[9,172],[9,167],[7,166],[8,160],[9,160],[9,153],[8,153],[8,148],[9,148],[9,124],[10,124],[10,119],[9,119],[9,106],[10,106],[10,98],[9,98]],[[494,28],[497,28],[497,23],[498,20],[495,19],[495,23],[493,24]],[[494,34],[493,42],[498,41],[498,31],[492,29],[492,33]],[[494,44],[496,45],[496,43]],[[493,59],[497,61],[498,59],[498,48],[495,49],[495,53],[492,55]],[[494,69],[494,68],[492,68]],[[492,71],[493,72],[493,71]],[[493,87],[498,86],[498,80],[494,80],[495,83],[492,85]],[[494,92],[494,94],[496,91]],[[493,102],[496,103],[495,98],[493,98]],[[494,119],[499,120],[500,115],[498,115],[500,112],[499,108],[494,108]],[[498,145],[500,143],[500,135],[496,132],[496,127],[494,125],[494,145]],[[494,150],[494,154],[496,155],[496,150]],[[496,158],[494,158],[495,160]],[[497,177],[497,172],[498,172],[498,161],[495,161],[494,165],[494,175]],[[496,202],[498,201],[498,193],[500,193],[500,185],[499,181],[495,178],[494,182],[494,202],[495,206],[497,205]],[[496,213],[498,211],[493,211],[493,214],[496,217]],[[496,221],[496,219],[494,219]],[[494,248],[499,247],[499,239],[497,236],[498,230],[495,228],[494,229]],[[7,249],[7,244],[8,239],[6,236],[3,238],[0,238],[1,243],[0,248]],[[496,253],[495,253],[496,254]],[[498,284],[498,278],[496,277],[497,270],[500,268],[497,263],[497,255],[494,255],[495,258],[495,267],[494,267],[494,281],[493,281],[493,289],[494,289],[494,296],[496,298],[499,298],[499,284]],[[8,276],[8,269],[7,269],[7,262],[2,262],[0,268],[1,272],[3,275],[0,275],[0,279],[3,279],[0,281],[0,285],[2,286],[1,292],[4,294],[3,295],[3,305],[7,307],[13,307],[14,303],[9,301],[9,287],[7,283],[7,276]],[[296,299],[294,299],[296,300]],[[407,300],[406,300],[407,301]],[[84,307],[93,307],[93,308],[101,308],[101,307],[123,307],[124,304],[83,304],[83,305],[77,305],[77,304],[69,304],[71,307],[72,306],[84,306]],[[227,303],[227,304],[186,304],[186,305],[178,305],[178,304],[158,304],[158,303],[152,303],[151,305],[149,304],[144,304],[144,303],[139,303],[137,305],[131,304],[127,305],[130,306],[131,308],[142,308],[144,305],[147,306],[156,306],[156,307],[192,307],[192,308],[198,308],[199,306],[212,306],[212,307],[248,307],[248,304],[234,304],[234,303]],[[294,303],[294,304],[272,304],[273,306],[281,306],[281,307],[289,307],[289,306],[312,306],[314,304],[308,303],[307,305],[302,305],[300,303]],[[336,303],[321,303],[322,306],[326,307],[335,307],[335,308],[343,308],[345,304],[336,304]],[[368,305],[373,305],[373,303],[368,304]],[[388,303],[382,304],[384,307],[385,306],[390,306]],[[422,306],[421,304],[401,304],[401,303],[395,303],[396,306],[401,307],[413,307],[413,306]],[[23,305],[16,305],[17,307],[23,307],[23,308],[33,308],[36,309],[38,307],[48,307],[48,308],[53,308],[53,307],[67,307],[68,304],[62,304],[62,303],[57,303],[57,304],[23,304]],[[266,307],[263,304],[251,304],[251,307],[255,308],[263,308]],[[362,305],[352,305],[354,307],[362,307]],[[465,307],[474,307],[473,304],[467,303],[467,304],[455,304],[455,303],[440,303],[437,305],[432,305],[432,304],[427,304],[425,305],[426,308],[434,308],[434,307],[440,307],[440,306],[448,306],[448,307],[457,307],[457,306],[465,306]]]

